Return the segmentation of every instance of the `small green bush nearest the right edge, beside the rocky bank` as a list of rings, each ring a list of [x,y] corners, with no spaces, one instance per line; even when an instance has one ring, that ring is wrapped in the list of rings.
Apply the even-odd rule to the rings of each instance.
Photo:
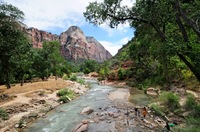
[[[196,106],[197,106],[197,102],[196,102],[196,100],[195,100],[194,95],[189,94],[189,95],[187,96],[187,99],[186,99],[185,108],[186,108],[187,110],[193,110],[194,107],[196,107]]]

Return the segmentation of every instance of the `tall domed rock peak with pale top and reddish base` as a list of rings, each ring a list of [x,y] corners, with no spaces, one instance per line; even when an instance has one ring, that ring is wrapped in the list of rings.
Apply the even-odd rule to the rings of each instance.
[[[60,36],[61,52],[66,59],[92,59],[98,62],[112,55],[93,37],[85,37],[83,31],[72,26]]]

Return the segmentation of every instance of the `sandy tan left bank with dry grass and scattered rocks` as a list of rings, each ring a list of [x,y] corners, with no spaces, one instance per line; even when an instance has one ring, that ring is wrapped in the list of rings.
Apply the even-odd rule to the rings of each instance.
[[[0,86],[0,108],[9,114],[8,120],[0,119],[1,132],[17,132],[29,123],[62,104],[56,93],[69,88],[82,95],[88,90],[86,85],[63,79],[50,78],[48,81],[15,84],[10,89]]]

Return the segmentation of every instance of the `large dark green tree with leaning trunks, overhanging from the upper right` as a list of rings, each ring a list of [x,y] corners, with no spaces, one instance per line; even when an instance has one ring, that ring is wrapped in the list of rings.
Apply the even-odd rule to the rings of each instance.
[[[130,8],[122,0],[92,2],[84,12],[86,20],[95,25],[109,22],[114,28],[128,22],[143,31],[140,39],[149,40],[159,50],[157,55],[167,68],[172,56],[178,56],[200,81],[200,1],[136,0]],[[156,50],[154,50],[156,51]]]

